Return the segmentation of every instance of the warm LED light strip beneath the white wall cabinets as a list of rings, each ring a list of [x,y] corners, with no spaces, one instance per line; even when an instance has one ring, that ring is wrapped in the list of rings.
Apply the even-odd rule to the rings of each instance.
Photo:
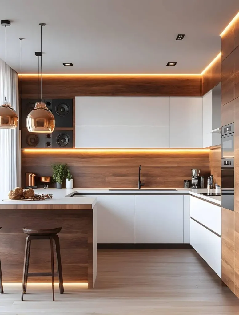
[[[24,152],[209,152],[210,149],[198,148],[198,149],[22,149]]]

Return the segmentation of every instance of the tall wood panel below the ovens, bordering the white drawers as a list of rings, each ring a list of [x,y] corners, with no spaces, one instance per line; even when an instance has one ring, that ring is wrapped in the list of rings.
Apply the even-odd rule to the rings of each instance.
[[[222,208],[222,281],[234,292],[234,211]]]

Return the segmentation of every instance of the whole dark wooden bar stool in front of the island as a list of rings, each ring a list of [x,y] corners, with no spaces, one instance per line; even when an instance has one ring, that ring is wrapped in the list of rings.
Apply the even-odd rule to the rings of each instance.
[[[61,268],[61,257],[60,257],[60,242],[57,233],[60,232],[62,228],[57,227],[55,229],[27,229],[23,228],[23,232],[28,236],[26,238],[25,246],[25,258],[24,258],[24,267],[23,267],[23,278],[22,278],[22,298],[26,293],[26,285],[28,277],[51,277],[52,278],[52,295],[53,301],[55,301],[54,296],[54,276],[58,276],[60,293],[64,292],[63,287],[63,278],[62,278],[62,268]],[[50,251],[51,251],[51,272],[28,272],[29,269],[29,258],[30,258],[30,249],[31,249],[31,240],[33,239],[49,239],[50,240]],[[54,253],[53,253],[53,240],[55,241],[56,246],[56,262],[57,262],[57,272],[54,273]]]

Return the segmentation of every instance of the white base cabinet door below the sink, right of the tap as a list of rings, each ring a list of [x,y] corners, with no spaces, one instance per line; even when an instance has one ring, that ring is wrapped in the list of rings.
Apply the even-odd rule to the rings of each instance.
[[[135,196],[135,243],[184,243],[183,196]]]

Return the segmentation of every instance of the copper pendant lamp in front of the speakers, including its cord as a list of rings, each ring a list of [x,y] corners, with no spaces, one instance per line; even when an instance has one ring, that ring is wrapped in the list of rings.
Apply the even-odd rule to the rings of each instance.
[[[55,118],[42,102],[42,27],[46,24],[39,25],[41,26],[41,99],[26,117],[26,127],[29,132],[51,133],[55,128]]]

